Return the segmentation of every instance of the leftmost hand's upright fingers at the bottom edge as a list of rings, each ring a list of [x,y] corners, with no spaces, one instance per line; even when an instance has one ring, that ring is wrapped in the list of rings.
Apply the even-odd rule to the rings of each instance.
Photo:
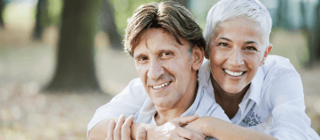
[[[125,116],[122,115],[116,124],[114,120],[111,120],[105,140],[131,140],[131,124],[133,119],[133,116],[125,119]],[[136,140],[145,140],[146,128],[139,127],[136,136]]]

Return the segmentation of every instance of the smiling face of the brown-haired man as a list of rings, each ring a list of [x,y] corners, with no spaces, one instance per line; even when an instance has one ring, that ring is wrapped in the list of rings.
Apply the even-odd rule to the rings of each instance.
[[[133,50],[139,77],[157,110],[188,101],[184,95],[196,88],[192,83],[197,81],[197,70],[188,53],[189,43],[184,39],[181,43],[164,29],[149,29],[147,38],[144,31]]]

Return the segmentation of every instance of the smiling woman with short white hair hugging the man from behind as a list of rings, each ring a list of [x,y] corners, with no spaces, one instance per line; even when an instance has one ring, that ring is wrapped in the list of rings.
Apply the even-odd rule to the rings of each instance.
[[[185,128],[217,139],[318,138],[305,113],[298,72],[288,59],[268,56],[271,25],[269,12],[257,0],[222,0],[211,8],[205,33],[210,61],[198,71],[198,82],[232,123],[202,117]],[[127,86],[96,111],[88,124],[90,134],[105,133],[110,118],[134,115],[147,98],[144,93]],[[164,134],[145,126],[147,138]],[[131,131],[136,128],[133,124]]]

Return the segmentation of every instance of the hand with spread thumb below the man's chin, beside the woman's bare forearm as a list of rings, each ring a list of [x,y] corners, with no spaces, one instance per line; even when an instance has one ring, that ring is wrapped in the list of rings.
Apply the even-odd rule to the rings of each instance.
[[[147,139],[203,140],[206,137],[205,135],[192,132],[186,128],[181,128],[181,126],[184,126],[196,119],[198,119],[198,115],[177,117],[165,123],[163,126],[154,126],[151,128],[147,128]]]

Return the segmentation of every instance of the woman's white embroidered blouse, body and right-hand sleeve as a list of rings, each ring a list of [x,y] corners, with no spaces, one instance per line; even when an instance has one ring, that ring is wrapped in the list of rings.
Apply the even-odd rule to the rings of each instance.
[[[210,61],[203,63],[198,81],[215,99]],[[269,55],[265,64],[257,70],[238,112],[231,120],[233,124],[267,133],[277,139],[320,139],[310,127],[305,109],[299,73],[289,59]]]

